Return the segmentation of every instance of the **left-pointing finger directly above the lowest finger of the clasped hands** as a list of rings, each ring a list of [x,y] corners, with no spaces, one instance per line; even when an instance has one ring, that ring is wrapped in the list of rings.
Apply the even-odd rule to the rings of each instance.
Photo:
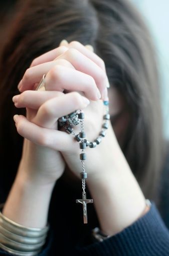
[[[57,96],[61,96],[58,91],[25,91],[13,97],[13,102],[18,108],[28,107],[31,109],[39,109],[47,100]]]

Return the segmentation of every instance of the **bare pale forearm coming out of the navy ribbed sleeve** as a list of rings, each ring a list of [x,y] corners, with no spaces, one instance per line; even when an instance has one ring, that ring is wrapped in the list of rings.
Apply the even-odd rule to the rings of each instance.
[[[87,181],[100,228],[107,235],[114,235],[131,225],[145,209],[142,191],[121,154],[117,150],[116,158],[105,166],[104,172]]]

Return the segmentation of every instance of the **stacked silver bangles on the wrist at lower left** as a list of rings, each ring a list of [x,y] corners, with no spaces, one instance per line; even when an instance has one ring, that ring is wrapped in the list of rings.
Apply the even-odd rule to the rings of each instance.
[[[0,247],[14,255],[37,255],[46,242],[49,225],[44,228],[28,228],[8,219],[1,212]]]

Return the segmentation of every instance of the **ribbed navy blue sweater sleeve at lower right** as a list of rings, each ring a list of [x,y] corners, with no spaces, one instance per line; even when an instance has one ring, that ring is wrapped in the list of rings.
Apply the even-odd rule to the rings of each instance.
[[[77,246],[82,256],[168,256],[169,230],[154,202],[150,210],[132,225],[103,242]]]

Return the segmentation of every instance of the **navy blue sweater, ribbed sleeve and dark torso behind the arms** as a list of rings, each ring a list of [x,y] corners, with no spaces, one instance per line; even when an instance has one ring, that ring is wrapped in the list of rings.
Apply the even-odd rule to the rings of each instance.
[[[50,232],[39,256],[165,256],[169,255],[169,156],[161,176],[160,204],[120,233],[103,242],[93,242],[91,229],[98,226],[94,207],[88,206],[88,224],[83,224],[82,207],[75,203],[81,188],[69,187],[61,178],[56,183],[49,209]],[[88,191],[89,195],[89,191]],[[12,255],[0,250],[0,255]]]

